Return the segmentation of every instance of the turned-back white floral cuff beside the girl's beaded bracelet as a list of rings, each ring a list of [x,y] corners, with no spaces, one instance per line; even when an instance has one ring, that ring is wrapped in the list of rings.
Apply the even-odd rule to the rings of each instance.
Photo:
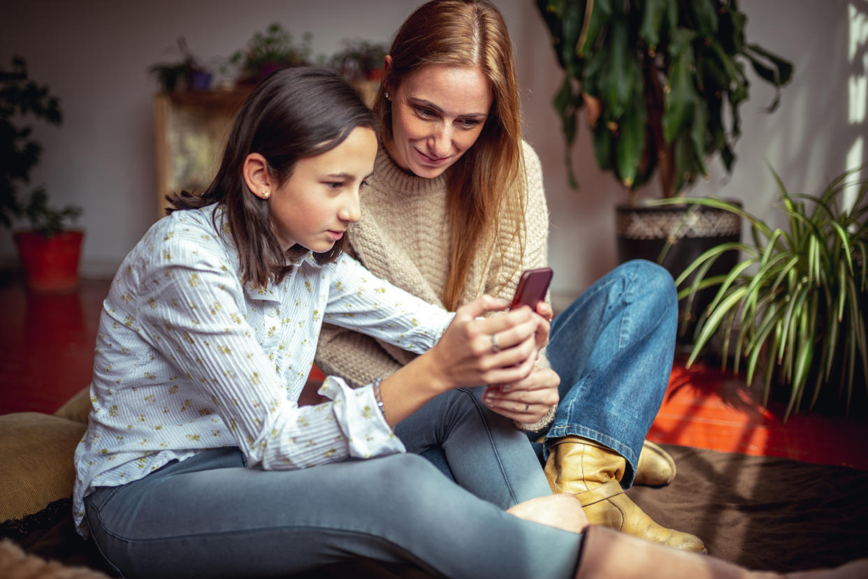
[[[351,457],[385,457],[406,451],[379,411],[372,385],[352,389],[343,378],[328,376],[319,394],[332,400]]]

